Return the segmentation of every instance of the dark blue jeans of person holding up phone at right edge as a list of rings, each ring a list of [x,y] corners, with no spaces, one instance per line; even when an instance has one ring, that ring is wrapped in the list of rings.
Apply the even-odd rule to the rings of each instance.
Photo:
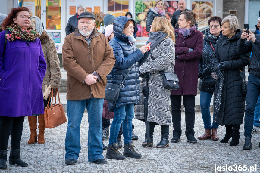
[[[248,76],[247,93],[246,93],[246,113],[245,113],[245,137],[252,137],[254,125],[254,111],[260,94],[260,78],[251,73]]]

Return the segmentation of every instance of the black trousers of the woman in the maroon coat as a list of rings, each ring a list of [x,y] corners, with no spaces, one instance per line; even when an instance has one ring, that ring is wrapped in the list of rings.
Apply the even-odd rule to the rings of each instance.
[[[185,108],[186,133],[194,134],[195,121],[195,95],[183,95],[183,106]],[[181,95],[171,95],[171,118],[173,129],[181,132]]]

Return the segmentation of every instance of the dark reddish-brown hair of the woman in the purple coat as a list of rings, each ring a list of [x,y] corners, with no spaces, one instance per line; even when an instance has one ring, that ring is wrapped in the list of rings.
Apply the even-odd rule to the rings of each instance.
[[[21,11],[28,11],[30,13],[30,10],[26,7],[18,7],[18,8],[12,8],[10,10],[10,13],[5,18],[5,20],[2,23],[2,29],[5,30],[6,26],[9,26],[11,24],[14,24],[14,18],[17,18],[17,14]]]

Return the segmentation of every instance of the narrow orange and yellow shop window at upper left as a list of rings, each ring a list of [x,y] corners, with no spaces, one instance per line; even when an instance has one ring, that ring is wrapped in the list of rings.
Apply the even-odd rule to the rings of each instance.
[[[61,0],[46,1],[46,29],[61,29]]]

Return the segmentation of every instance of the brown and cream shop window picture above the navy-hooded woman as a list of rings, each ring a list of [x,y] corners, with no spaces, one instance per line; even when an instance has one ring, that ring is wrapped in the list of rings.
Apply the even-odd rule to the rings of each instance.
[[[127,12],[129,12],[129,1],[108,0],[108,14],[117,17],[125,16]]]

